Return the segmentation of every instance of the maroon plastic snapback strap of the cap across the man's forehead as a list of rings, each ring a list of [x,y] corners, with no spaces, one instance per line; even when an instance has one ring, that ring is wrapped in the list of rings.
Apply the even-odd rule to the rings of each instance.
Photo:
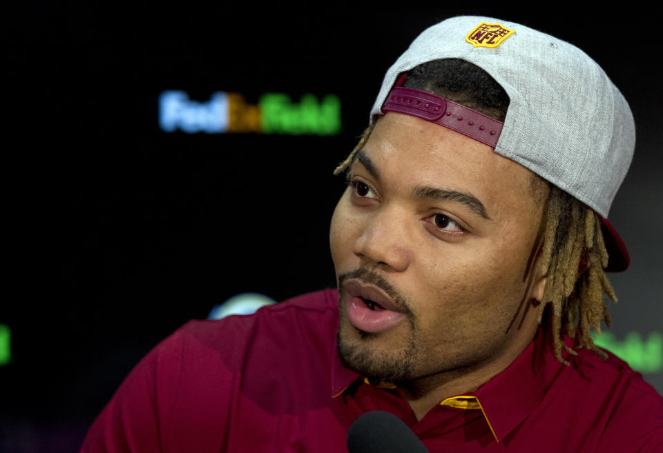
[[[425,91],[395,87],[382,106],[383,112],[398,112],[431,121],[495,148],[504,123],[471,108]]]

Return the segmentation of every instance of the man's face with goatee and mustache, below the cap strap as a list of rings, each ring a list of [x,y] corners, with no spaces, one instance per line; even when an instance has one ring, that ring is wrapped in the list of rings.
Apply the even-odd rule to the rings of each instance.
[[[530,341],[543,280],[530,272],[542,203],[529,170],[390,112],[349,181],[330,232],[348,368],[410,381],[475,370]]]

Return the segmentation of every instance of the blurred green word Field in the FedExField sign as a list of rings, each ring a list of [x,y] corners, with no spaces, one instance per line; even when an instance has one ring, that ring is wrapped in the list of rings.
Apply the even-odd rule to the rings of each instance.
[[[327,94],[322,102],[314,94],[304,94],[299,103],[285,93],[260,97],[260,123],[265,134],[335,135],[340,132],[340,99]]]

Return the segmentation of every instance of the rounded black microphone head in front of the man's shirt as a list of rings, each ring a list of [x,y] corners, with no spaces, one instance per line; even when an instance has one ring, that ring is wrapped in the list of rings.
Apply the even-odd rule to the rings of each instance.
[[[419,437],[389,412],[366,412],[347,431],[349,453],[428,453]]]

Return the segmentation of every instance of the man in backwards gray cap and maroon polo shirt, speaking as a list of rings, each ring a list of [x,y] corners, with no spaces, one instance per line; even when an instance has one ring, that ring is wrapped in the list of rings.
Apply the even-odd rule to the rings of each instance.
[[[426,30],[336,170],[338,294],[185,325],[83,451],[339,452],[378,410],[431,452],[661,451],[663,399],[589,336],[604,268],[628,265],[604,217],[633,146],[570,44],[483,17]]]

